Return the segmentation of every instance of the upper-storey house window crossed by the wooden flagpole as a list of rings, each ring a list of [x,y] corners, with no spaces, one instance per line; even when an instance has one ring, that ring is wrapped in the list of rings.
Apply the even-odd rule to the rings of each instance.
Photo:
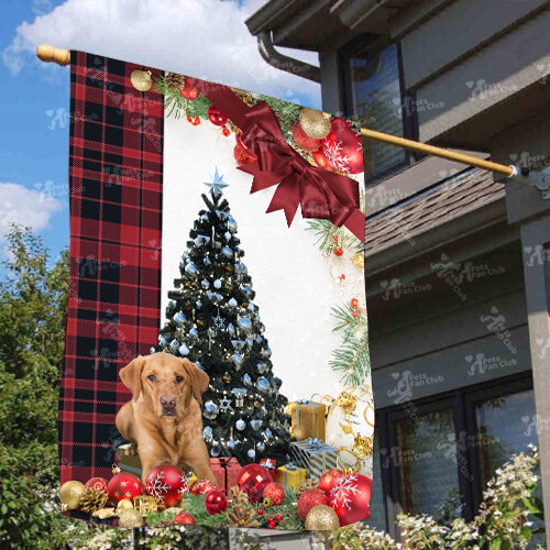
[[[370,35],[341,52],[344,109],[362,125],[393,135],[414,138],[411,109],[404,98],[397,44],[381,44]],[[373,179],[407,165],[413,154],[394,145],[363,140],[365,177]]]

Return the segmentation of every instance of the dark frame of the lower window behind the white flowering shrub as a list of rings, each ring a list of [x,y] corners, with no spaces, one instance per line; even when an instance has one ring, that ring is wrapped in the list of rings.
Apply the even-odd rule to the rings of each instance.
[[[376,410],[375,426],[378,439],[378,472],[382,476],[382,491],[384,503],[384,517],[387,532],[396,540],[400,540],[400,532],[396,525],[397,515],[402,512],[399,494],[399,465],[396,464],[397,454],[392,449],[397,449],[396,421],[409,417],[407,407],[415,406],[415,413],[425,415],[443,408],[453,409],[454,432],[457,441],[460,433],[465,432],[466,438],[476,435],[475,405],[480,402],[498,396],[507,396],[518,392],[534,389],[531,371],[513,374],[494,381],[482,382],[473,386],[461,387],[442,394],[425,397],[408,404],[399,404]],[[468,440],[468,439],[466,439]],[[477,462],[476,446],[457,446],[457,468],[459,491],[461,495],[462,517],[471,521],[482,502],[482,479]],[[385,452],[383,452],[385,450]],[[387,460],[383,460],[383,457]],[[465,465],[464,472],[461,465]],[[466,473],[469,475],[466,475]],[[380,526],[378,526],[380,527]]]

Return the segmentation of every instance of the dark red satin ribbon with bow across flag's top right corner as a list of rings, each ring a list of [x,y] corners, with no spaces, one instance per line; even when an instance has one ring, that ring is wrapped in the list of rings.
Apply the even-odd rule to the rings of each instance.
[[[311,166],[285,140],[277,118],[265,101],[248,107],[230,88],[188,78],[202,95],[241,130],[243,144],[257,157],[240,169],[252,174],[251,193],[277,185],[266,212],[284,210],[290,227],[298,206],[304,218],[345,226],[365,241],[365,216],[360,210],[358,183],[346,176]]]

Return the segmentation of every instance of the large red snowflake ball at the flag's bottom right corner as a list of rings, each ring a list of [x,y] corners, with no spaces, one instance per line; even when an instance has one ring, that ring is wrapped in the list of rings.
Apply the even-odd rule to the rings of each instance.
[[[340,527],[371,517],[371,487],[373,481],[366,475],[349,474],[332,487],[329,505],[340,519]]]

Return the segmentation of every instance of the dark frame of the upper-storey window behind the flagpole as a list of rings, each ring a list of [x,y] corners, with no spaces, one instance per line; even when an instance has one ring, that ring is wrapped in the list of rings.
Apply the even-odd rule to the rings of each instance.
[[[416,94],[411,90],[407,90],[405,87],[405,75],[403,68],[403,55],[402,55],[402,44],[398,41],[392,41],[387,36],[363,33],[350,41],[338,52],[338,64],[339,64],[339,77],[343,85],[340,88],[340,105],[345,117],[353,119],[353,86],[351,80],[351,58],[358,53],[375,53],[385,50],[392,44],[397,46],[397,69],[399,73],[399,91],[402,106],[415,105]],[[404,138],[409,140],[418,140],[418,113],[416,109],[403,109],[403,133]],[[362,124],[363,127],[363,124]],[[388,145],[392,146],[392,145]],[[411,150],[405,150],[405,160],[391,168],[376,174],[375,176],[367,178],[367,187],[387,179],[404,168],[407,168],[419,160],[424,158],[426,155]]]

